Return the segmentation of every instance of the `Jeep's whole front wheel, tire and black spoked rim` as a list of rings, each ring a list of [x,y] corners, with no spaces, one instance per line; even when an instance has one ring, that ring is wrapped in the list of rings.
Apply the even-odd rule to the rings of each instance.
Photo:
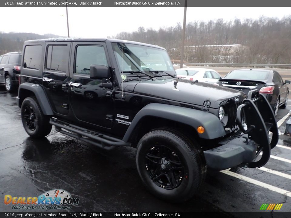
[[[176,130],[156,129],[137,145],[139,175],[156,197],[172,202],[189,200],[201,187],[206,174],[202,151]]]

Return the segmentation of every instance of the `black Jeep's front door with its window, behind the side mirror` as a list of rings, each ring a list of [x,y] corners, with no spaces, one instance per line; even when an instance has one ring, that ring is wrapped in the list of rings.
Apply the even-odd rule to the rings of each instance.
[[[90,78],[90,65],[110,68],[104,42],[73,42],[69,83],[69,101],[75,117],[85,126],[111,128],[114,123],[112,89],[102,80]],[[113,77],[110,78],[113,82]],[[103,81],[105,82],[105,81]]]

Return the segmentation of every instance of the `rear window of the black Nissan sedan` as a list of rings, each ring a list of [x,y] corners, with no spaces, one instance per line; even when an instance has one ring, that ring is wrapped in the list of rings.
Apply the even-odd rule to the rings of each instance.
[[[266,71],[232,71],[227,74],[223,79],[244,79],[244,80],[266,80],[269,72]]]

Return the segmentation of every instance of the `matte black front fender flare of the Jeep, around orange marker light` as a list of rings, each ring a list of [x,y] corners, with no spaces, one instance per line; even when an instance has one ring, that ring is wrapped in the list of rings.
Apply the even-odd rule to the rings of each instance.
[[[203,126],[205,128],[204,133],[198,135],[204,139],[215,139],[226,134],[221,121],[214,114],[188,107],[151,103],[143,107],[135,115],[122,139],[123,141],[128,142],[139,121],[146,116],[160,117],[187,124],[193,127],[196,131],[197,127]]]

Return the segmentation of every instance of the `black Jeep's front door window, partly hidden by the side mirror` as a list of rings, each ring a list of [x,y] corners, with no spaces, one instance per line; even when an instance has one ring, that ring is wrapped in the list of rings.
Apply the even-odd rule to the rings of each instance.
[[[90,74],[90,65],[108,66],[103,46],[79,45],[76,50],[75,73]]]

